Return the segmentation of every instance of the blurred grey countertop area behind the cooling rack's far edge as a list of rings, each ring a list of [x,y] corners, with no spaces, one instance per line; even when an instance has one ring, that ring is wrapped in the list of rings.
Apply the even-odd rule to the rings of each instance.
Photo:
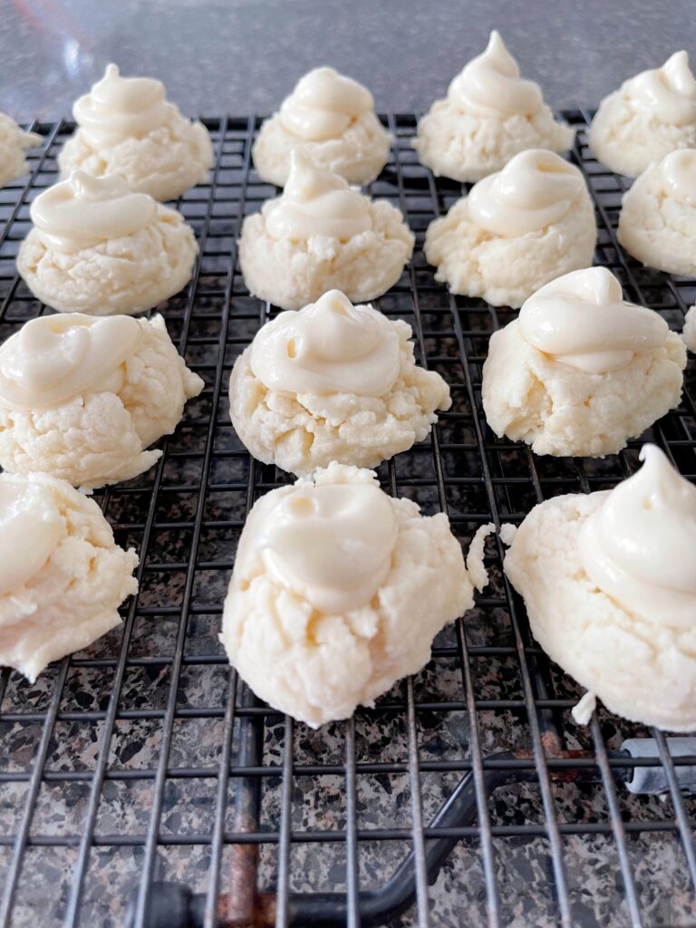
[[[494,26],[557,109],[596,105],[696,38],[690,0],[5,0],[0,110],[64,116],[115,60],[161,78],[189,113],[273,110],[327,63],[365,82],[380,109],[418,111]]]

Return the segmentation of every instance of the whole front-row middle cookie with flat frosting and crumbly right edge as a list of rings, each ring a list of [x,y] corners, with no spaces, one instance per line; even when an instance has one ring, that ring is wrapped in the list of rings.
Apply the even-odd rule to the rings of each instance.
[[[261,699],[317,728],[372,705],[428,662],[432,638],[487,582],[444,513],[424,517],[374,473],[333,463],[273,490],[239,539],[220,636]]]

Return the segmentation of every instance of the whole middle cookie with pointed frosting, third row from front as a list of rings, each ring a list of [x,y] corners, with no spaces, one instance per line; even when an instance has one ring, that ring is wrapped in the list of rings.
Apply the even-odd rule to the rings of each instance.
[[[282,196],[244,220],[239,264],[251,293],[281,309],[301,309],[327,290],[365,303],[401,277],[413,245],[391,203],[369,200],[295,151]]]

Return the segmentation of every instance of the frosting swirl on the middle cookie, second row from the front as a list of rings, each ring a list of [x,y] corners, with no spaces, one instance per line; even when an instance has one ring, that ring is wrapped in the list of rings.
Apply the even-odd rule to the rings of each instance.
[[[399,339],[381,313],[329,290],[267,323],[251,344],[250,363],[270,390],[383,396],[399,374]]]

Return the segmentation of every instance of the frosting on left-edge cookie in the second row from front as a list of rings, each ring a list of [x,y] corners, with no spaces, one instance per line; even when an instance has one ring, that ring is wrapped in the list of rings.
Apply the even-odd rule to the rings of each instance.
[[[122,364],[142,337],[132,316],[32,319],[0,346],[0,405],[36,409],[89,391],[118,393]]]

